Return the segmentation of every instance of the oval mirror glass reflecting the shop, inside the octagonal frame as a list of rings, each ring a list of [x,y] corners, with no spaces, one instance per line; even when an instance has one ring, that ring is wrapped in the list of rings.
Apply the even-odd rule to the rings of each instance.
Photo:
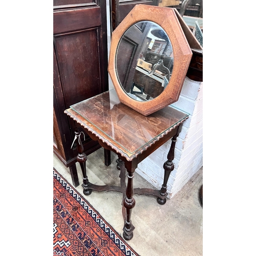
[[[138,101],[152,100],[166,88],[173,71],[173,48],[154,22],[132,25],[116,52],[116,73],[122,89]]]

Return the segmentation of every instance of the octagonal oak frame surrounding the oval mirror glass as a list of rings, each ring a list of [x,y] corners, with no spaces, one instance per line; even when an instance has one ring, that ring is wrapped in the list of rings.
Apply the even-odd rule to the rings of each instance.
[[[153,24],[160,26],[169,38],[173,50],[172,73],[169,77],[167,86],[158,96],[145,101],[138,101],[125,92],[118,77],[117,70],[120,70],[120,67],[117,66],[116,61],[118,46],[124,33],[133,25],[140,22],[152,22]],[[130,55],[125,56],[124,51],[124,62],[125,57],[131,58]],[[134,58],[136,57],[137,59],[135,62],[137,63],[139,56],[135,56]],[[147,116],[165,108],[165,106],[168,106],[179,99],[191,57],[191,49],[181,28],[175,10],[168,7],[138,4],[112,33],[108,71],[120,102],[142,115]],[[134,69],[134,67],[131,69]],[[130,70],[127,70],[127,73],[128,72],[130,72]]]

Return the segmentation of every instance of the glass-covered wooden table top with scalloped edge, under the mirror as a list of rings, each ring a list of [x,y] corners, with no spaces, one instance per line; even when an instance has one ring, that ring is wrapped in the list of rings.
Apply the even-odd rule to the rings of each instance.
[[[167,106],[143,116],[121,103],[114,89],[76,103],[65,113],[128,161],[175,129],[189,115]]]

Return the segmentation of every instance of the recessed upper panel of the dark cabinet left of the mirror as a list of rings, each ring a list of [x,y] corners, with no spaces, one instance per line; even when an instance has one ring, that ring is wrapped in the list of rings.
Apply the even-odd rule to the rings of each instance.
[[[55,37],[66,108],[102,92],[97,38],[97,29]]]

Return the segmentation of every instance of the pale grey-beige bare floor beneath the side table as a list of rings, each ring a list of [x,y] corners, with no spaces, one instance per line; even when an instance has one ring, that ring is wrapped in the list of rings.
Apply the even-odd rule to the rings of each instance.
[[[103,185],[119,185],[119,171],[116,155],[111,152],[111,165],[104,165],[103,149],[88,156],[87,175],[90,182]],[[53,166],[71,184],[69,168],[54,155]],[[79,182],[82,174],[77,163]],[[187,182],[172,199],[159,205],[156,197],[134,195],[136,206],[132,212],[135,226],[134,237],[127,241],[141,256],[200,256],[203,255],[203,209],[199,203],[199,189],[203,183],[203,169]],[[135,187],[152,187],[150,183],[135,173]],[[82,194],[82,187],[76,187]],[[83,195],[83,194],[82,194]],[[93,191],[84,196],[101,216],[122,235],[122,194],[118,192]]]

